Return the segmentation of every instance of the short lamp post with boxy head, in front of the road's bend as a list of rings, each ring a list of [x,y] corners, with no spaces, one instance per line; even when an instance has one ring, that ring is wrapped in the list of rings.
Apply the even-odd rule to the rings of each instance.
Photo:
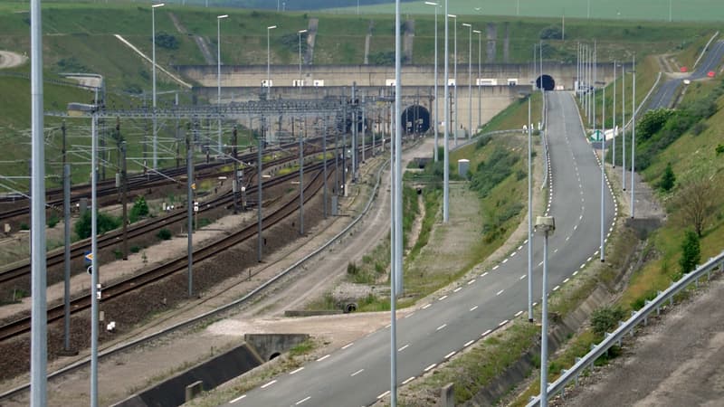
[[[540,406],[548,406],[548,236],[556,231],[553,216],[538,216],[536,232],[543,236],[543,298],[540,327]]]

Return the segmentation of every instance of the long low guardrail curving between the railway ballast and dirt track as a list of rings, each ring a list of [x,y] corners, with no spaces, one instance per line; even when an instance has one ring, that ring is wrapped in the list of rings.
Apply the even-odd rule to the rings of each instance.
[[[155,332],[155,333],[153,333],[153,334],[149,334],[149,335],[147,335],[147,336],[142,336],[142,337],[140,337],[140,338],[138,338],[138,339],[136,339],[136,340],[132,340],[132,341],[127,342],[127,343],[125,343],[125,344],[120,344],[120,345],[118,345],[118,346],[116,346],[116,347],[112,347],[112,348],[110,348],[110,349],[108,349],[108,350],[106,350],[106,351],[101,352],[101,353],[98,355],[99,360],[100,360],[100,359],[104,359],[104,358],[106,358],[106,357],[108,357],[108,356],[111,356],[111,355],[116,355],[116,354],[118,354],[118,353],[120,353],[120,352],[122,352],[122,351],[124,351],[124,350],[131,349],[131,348],[133,348],[133,347],[135,347],[135,346],[146,344],[146,343],[148,343],[148,342],[150,342],[150,341],[152,341],[152,340],[154,340],[154,339],[157,339],[157,338],[159,338],[159,337],[161,337],[161,336],[165,336],[165,335],[174,333],[174,332],[176,332],[176,331],[178,331],[178,330],[181,330],[181,329],[184,329],[184,328],[186,328],[186,327],[192,327],[192,326],[194,326],[195,324],[197,324],[197,323],[199,323],[199,322],[201,322],[201,321],[204,321],[204,320],[207,319],[207,318],[217,317],[217,316],[219,316],[220,314],[223,314],[224,312],[226,312],[226,311],[228,311],[228,310],[230,310],[230,309],[232,309],[232,308],[234,308],[234,307],[238,307],[239,305],[243,304],[244,302],[249,301],[251,298],[253,298],[253,297],[256,296],[257,294],[259,294],[260,292],[262,292],[262,291],[263,291],[264,289],[266,289],[267,287],[271,286],[271,284],[273,284],[273,283],[276,282],[277,280],[285,277],[287,274],[291,273],[291,271],[296,270],[296,269],[297,269],[298,267],[300,267],[302,264],[304,264],[304,263],[307,262],[308,260],[312,259],[313,257],[317,256],[317,255],[318,255],[319,253],[321,253],[322,251],[327,250],[327,249],[329,248],[329,246],[331,246],[332,244],[338,242],[342,237],[344,237],[344,236],[349,232],[349,230],[351,230],[354,226],[356,226],[357,223],[358,223],[359,221],[361,221],[362,218],[367,214],[367,212],[369,212],[369,209],[372,207],[372,203],[375,201],[377,192],[378,192],[378,190],[379,190],[379,185],[380,185],[380,182],[381,182],[381,180],[382,180],[382,173],[383,173],[383,171],[386,169],[387,164],[389,164],[389,159],[387,159],[386,162],[383,163],[382,166],[380,166],[380,168],[377,170],[375,187],[374,187],[373,190],[372,190],[372,194],[369,195],[369,199],[367,200],[367,205],[365,205],[365,209],[362,211],[362,213],[360,213],[359,215],[357,215],[357,218],[355,218],[354,221],[350,222],[350,223],[347,225],[347,227],[345,227],[341,232],[338,232],[334,237],[332,237],[331,239],[329,239],[329,241],[327,241],[325,244],[323,244],[322,246],[320,246],[316,251],[312,251],[312,252],[311,252],[310,254],[308,254],[307,256],[305,256],[305,257],[303,257],[302,259],[296,261],[296,262],[295,262],[294,264],[292,264],[290,267],[288,267],[288,268],[285,269],[285,270],[282,270],[279,274],[275,275],[275,276],[272,277],[271,279],[268,279],[268,280],[265,281],[261,286],[257,287],[256,289],[253,289],[252,291],[250,291],[249,293],[247,293],[247,294],[246,294],[245,296],[243,296],[242,298],[236,299],[235,301],[233,301],[233,302],[231,302],[231,303],[229,303],[229,304],[226,304],[226,305],[224,305],[224,306],[222,306],[222,307],[212,309],[211,311],[205,312],[204,314],[201,314],[201,315],[199,315],[199,316],[193,317],[193,318],[191,318],[191,319],[187,319],[186,321],[180,322],[180,323],[178,323],[178,324],[176,324],[176,325],[174,325],[174,326],[164,328],[164,329],[162,329],[162,330],[160,330],[160,331],[158,331],[158,332]],[[54,377],[56,377],[56,376],[61,376],[62,374],[71,373],[71,372],[73,372],[73,371],[75,371],[75,370],[77,370],[77,369],[80,369],[81,367],[84,367],[84,366],[87,365],[87,364],[90,364],[90,358],[85,358],[85,359],[83,359],[83,360],[81,360],[81,361],[75,362],[74,364],[69,364],[68,366],[63,367],[62,369],[56,370],[55,372],[49,373],[49,374],[47,375],[47,378],[48,378],[48,379],[52,379],[52,378],[54,378]],[[27,390],[27,389],[29,389],[29,388],[30,388],[30,383],[25,383],[25,384],[23,384],[23,385],[20,385],[20,386],[18,386],[18,387],[15,387],[14,389],[11,389],[11,390],[9,390],[9,391],[7,391],[7,392],[5,392],[5,393],[0,393],[0,400],[4,400],[4,399],[6,399],[6,398],[8,398],[8,397],[12,397],[12,396],[14,396],[14,395],[16,395],[16,394],[18,394],[18,393],[22,393],[22,392],[24,392],[25,390]]]

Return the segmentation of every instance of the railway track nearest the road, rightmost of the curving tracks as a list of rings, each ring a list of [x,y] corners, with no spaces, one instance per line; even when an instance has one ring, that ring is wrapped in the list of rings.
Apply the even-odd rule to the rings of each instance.
[[[313,166],[310,166],[310,171],[315,171],[314,178],[311,180],[311,182],[305,186],[304,188],[304,196],[305,196],[305,202],[309,201],[318,191],[321,189],[324,180],[322,177],[322,166],[324,163],[315,164]],[[331,175],[331,172],[329,172],[328,177]],[[297,174],[289,174],[289,175],[282,175],[278,178],[275,178],[273,181],[274,183],[283,183],[287,182],[290,179],[293,179],[294,177],[298,176]],[[296,197],[299,197],[299,194],[296,194]],[[281,222],[286,217],[290,216],[292,213],[295,213],[298,209],[299,202],[298,199],[292,198],[287,203],[283,204],[281,208],[273,213],[267,214],[263,218],[263,226],[264,229],[271,228],[278,222]],[[247,241],[249,239],[252,239],[254,236],[256,236],[257,233],[257,226],[256,224],[250,224],[248,226],[243,227],[241,230],[237,232],[233,232],[233,234],[226,236],[218,241],[214,241],[211,244],[205,245],[204,247],[195,249],[193,256],[194,261],[202,261],[205,259],[209,259],[213,257],[214,255],[226,251],[229,248],[232,248],[233,246],[243,242]],[[186,256],[177,258],[175,260],[167,261],[164,264],[161,264],[157,267],[154,267],[151,270],[147,270],[143,273],[140,273],[138,275],[135,275],[133,277],[130,277],[128,279],[124,279],[122,281],[116,282],[114,284],[111,284],[110,286],[103,289],[103,301],[109,301],[114,298],[120,298],[124,295],[127,295],[134,290],[143,288],[148,286],[149,284],[152,284],[154,282],[157,282],[160,279],[164,279],[170,275],[173,275],[174,273],[182,270],[186,270],[187,268],[187,259]],[[81,312],[84,309],[90,308],[90,295],[83,295],[79,298],[74,298],[71,300],[71,313],[75,314],[78,312]],[[53,321],[62,319],[63,317],[63,305],[59,304],[55,307],[48,308],[47,311],[47,321],[48,324],[52,323]],[[30,331],[30,324],[31,324],[31,318],[30,317],[22,317],[19,319],[16,319],[8,324],[5,324],[3,327],[0,327],[0,341],[7,340],[9,338],[23,335],[26,332]]]

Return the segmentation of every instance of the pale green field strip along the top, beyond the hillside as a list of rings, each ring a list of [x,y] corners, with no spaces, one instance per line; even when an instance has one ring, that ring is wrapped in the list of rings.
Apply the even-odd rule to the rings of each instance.
[[[441,0],[438,3],[444,6]],[[392,14],[395,3],[364,6],[360,13]],[[590,9],[589,6],[590,5]],[[404,2],[400,12],[432,14],[434,8],[424,1]],[[334,13],[354,14],[357,7],[331,9]],[[448,13],[470,15],[510,15],[522,17],[562,17],[604,20],[669,21],[667,0],[456,0],[449,1]],[[672,21],[724,21],[724,8],[718,0],[672,0]]]

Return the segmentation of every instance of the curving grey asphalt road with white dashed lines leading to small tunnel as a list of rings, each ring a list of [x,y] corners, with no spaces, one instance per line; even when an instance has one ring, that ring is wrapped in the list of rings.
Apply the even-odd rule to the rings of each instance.
[[[548,241],[549,289],[557,289],[597,255],[600,243],[601,170],[586,141],[573,97],[548,92],[548,137],[552,168],[550,214],[557,232]],[[606,234],[613,224],[613,199],[606,187]],[[534,239],[535,293],[540,298],[542,241]],[[397,381],[443,363],[462,348],[523,313],[528,298],[527,248],[520,246],[475,279],[399,319]],[[360,338],[288,374],[281,374],[231,406],[369,405],[390,389],[389,328]]]

